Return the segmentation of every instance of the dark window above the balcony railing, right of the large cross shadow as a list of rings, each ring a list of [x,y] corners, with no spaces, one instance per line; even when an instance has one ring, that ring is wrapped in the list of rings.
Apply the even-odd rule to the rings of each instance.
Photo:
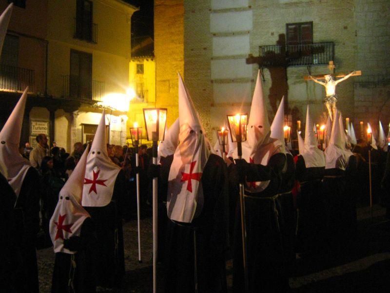
[[[313,42],[313,22],[286,24],[287,45],[311,44]]]

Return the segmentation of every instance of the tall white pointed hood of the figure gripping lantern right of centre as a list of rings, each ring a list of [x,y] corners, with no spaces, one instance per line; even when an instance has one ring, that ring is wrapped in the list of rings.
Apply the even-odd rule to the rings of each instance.
[[[242,159],[248,163],[268,165],[270,158],[283,152],[283,145],[278,139],[270,138],[271,126],[268,121],[267,106],[264,101],[260,71],[257,74],[256,85],[251,105],[251,113],[248,122],[247,141],[242,143]],[[234,158],[237,158],[237,149],[234,150]],[[268,187],[270,181],[247,182],[246,190],[249,192],[261,192]]]

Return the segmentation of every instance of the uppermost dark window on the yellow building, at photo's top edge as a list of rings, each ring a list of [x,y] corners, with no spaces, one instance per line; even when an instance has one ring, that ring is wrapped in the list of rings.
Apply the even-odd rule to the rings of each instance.
[[[75,38],[92,42],[93,3],[91,0],[77,0]]]

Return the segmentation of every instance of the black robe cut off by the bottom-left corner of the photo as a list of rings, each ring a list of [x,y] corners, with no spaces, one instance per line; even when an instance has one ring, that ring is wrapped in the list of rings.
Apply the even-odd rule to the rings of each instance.
[[[0,173],[0,288],[4,292],[20,292],[21,277],[20,243],[17,241],[14,205],[16,195],[7,179]]]

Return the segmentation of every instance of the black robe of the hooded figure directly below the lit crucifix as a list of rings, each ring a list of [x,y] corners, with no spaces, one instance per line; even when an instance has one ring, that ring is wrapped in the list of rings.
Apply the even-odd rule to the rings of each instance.
[[[326,232],[323,244],[328,252],[342,252],[350,247],[356,233],[356,158],[351,156],[346,170],[325,169],[322,197],[326,213]]]

